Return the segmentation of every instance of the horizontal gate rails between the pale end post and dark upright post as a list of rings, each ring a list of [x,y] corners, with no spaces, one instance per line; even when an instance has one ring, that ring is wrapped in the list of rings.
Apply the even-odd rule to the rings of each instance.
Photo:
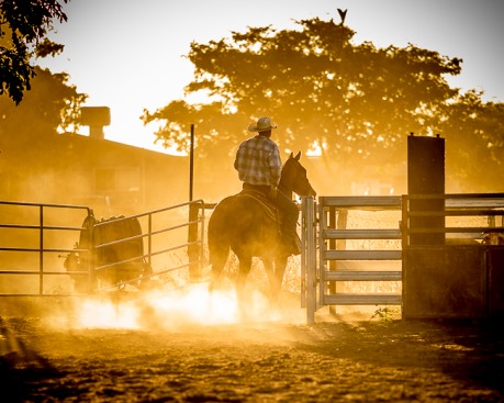
[[[401,211],[400,197],[321,197],[318,199],[318,247],[320,247],[320,304],[321,305],[369,305],[401,304],[399,294],[356,293],[345,290],[341,282],[347,281],[397,281],[401,271],[377,270],[362,268],[355,270],[341,269],[344,262],[367,262],[401,260],[402,251],[383,250],[369,246],[368,249],[350,250],[349,240],[401,239],[399,221],[396,228],[368,227],[366,230],[348,228],[348,213],[354,211],[382,212]],[[336,217],[334,215],[336,214]],[[337,220],[339,216],[339,220]],[[337,228],[335,228],[337,227]],[[341,242],[334,242],[340,239]],[[362,265],[360,265],[362,266]],[[339,284],[339,287],[338,287]],[[343,291],[340,291],[343,289]],[[334,309],[332,310],[334,311]]]

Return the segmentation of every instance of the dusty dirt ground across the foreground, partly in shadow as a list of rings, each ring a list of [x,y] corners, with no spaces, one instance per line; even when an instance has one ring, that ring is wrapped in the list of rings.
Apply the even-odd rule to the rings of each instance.
[[[495,323],[366,314],[72,328],[1,312],[2,402],[504,402]]]

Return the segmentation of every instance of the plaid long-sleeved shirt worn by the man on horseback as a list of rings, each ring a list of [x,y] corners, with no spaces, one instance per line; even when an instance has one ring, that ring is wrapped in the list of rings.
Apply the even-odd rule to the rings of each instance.
[[[282,170],[277,144],[261,135],[246,139],[236,152],[235,169],[243,182],[277,187]]]

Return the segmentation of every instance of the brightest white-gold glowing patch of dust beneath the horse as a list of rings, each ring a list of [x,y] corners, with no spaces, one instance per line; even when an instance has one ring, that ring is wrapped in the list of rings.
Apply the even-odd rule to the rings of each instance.
[[[138,292],[121,300],[101,298],[78,303],[71,327],[177,329],[235,324],[245,316],[248,322],[278,318],[268,310],[267,298],[259,292],[251,292],[240,307],[235,290],[210,293],[208,284],[192,284],[177,291]]]

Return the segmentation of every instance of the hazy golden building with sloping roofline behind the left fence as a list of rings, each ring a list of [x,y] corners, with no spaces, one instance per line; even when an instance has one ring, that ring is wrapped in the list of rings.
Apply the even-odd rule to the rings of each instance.
[[[0,199],[136,214],[189,197],[189,158],[77,134],[0,138]]]

